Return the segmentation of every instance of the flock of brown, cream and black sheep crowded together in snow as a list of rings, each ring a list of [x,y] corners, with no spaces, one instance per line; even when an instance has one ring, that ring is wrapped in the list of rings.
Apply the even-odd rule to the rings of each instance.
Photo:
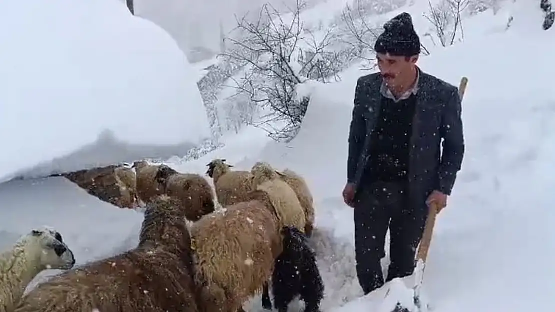
[[[0,257],[0,312],[244,312],[260,292],[266,309],[286,312],[300,296],[306,312],[320,311],[324,283],[307,242],[315,211],[304,178],[266,162],[250,171],[224,159],[207,166],[215,196],[198,174],[146,161],[134,163],[136,173],[120,167],[117,182],[146,207],[137,247],[74,266],[56,230],[34,229]],[[47,268],[64,271],[24,294]]]

